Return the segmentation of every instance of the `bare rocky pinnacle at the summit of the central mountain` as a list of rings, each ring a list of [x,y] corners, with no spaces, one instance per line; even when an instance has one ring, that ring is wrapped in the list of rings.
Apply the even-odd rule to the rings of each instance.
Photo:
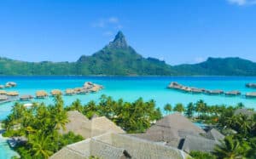
[[[114,37],[113,42],[108,44],[108,48],[128,48],[128,44],[125,40],[125,35],[122,31],[118,31],[117,35]]]

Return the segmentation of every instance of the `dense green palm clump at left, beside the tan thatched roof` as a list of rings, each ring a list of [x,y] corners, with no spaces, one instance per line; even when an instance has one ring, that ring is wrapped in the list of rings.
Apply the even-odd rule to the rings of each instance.
[[[58,133],[68,122],[61,96],[55,97],[55,105],[33,104],[30,109],[16,103],[3,122],[6,136],[26,137],[26,144],[15,148],[21,158],[48,158],[62,146],[83,139],[73,133]]]

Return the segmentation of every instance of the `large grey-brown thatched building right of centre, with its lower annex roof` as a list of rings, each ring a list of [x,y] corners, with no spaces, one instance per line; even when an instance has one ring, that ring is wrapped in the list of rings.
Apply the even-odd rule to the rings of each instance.
[[[165,116],[148,128],[146,133],[130,135],[177,147],[188,153],[190,150],[212,151],[218,140],[224,139],[224,135],[216,129],[206,132],[178,113]]]

